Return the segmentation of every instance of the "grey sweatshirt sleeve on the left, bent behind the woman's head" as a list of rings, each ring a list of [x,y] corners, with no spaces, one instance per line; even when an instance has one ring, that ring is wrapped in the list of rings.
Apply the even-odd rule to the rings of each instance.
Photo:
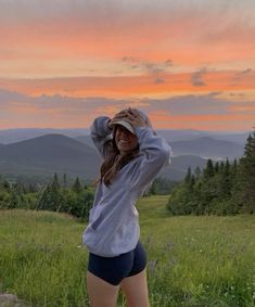
[[[91,139],[103,158],[111,150],[111,144],[107,142],[112,139],[112,129],[109,128],[110,120],[111,118],[107,116],[100,116],[94,119],[90,127]]]

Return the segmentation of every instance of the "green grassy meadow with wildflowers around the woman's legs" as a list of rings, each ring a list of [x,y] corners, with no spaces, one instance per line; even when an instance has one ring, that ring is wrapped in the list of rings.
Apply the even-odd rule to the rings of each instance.
[[[151,306],[255,306],[255,216],[170,217],[166,202],[138,203]],[[30,306],[89,306],[85,227],[63,214],[0,212],[0,293]]]

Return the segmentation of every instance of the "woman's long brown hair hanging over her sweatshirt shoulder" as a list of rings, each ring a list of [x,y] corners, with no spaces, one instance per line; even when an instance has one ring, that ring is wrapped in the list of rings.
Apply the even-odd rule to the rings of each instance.
[[[109,140],[104,145],[109,149],[109,153],[101,165],[100,178],[94,183],[104,182],[105,186],[110,186],[112,180],[116,177],[118,170],[120,170],[126,164],[133,159],[139,153],[138,146],[127,154],[120,154],[115,143],[116,128],[113,129],[113,139]]]

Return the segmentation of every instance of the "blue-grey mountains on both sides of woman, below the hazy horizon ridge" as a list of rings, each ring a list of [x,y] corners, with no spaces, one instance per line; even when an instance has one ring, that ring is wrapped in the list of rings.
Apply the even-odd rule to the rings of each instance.
[[[187,168],[203,168],[206,158],[240,157],[243,146],[231,142],[199,137],[193,140],[169,142],[174,152],[171,164],[160,176],[181,180]],[[9,176],[52,176],[53,172],[98,178],[102,159],[89,136],[71,138],[50,133],[9,144],[0,144],[0,174]]]

